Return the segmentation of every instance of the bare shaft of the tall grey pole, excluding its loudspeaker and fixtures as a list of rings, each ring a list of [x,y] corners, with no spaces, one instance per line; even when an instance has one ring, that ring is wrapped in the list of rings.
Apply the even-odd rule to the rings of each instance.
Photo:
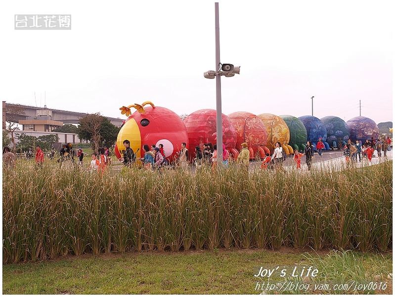
[[[215,2],[216,13],[216,68],[219,71],[219,5]],[[217,93],[217,164],[222,163],[222,105],[221,105],[221,75],[216,75]]]

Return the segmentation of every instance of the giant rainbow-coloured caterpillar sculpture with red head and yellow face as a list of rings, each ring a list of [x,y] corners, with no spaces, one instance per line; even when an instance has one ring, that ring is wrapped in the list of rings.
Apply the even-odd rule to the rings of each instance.
[[[148,107],[146,107],[148,105]],[[132,112],[134,109],[134,112]],[[143,157],[143,145],[162,144],[170,162],[176,158],[181,143],[186,143],[190,157],[195,157],[195,147],[204,143],[217,143],[217,112],[199,110],[189,114],[183,121],[174,112],[155,106],[150,101],[120,108],[128,118],[121,126],[115,146],[115,155],[120,158],[125,149],[123,142],[129,140],[137,156]],[[246,142],[250,158],[261,158],[272,153],[279,141],[287,154],[294,149],[304,150],[307,140],[315,147],[321,138],[325,149],[345,144],[348,139],[359,140],[378,138],[379,129],[370,118],[357,116],[347,123],[336,116],[318,119],[311,115],[299,118],[292,115],[274,115],[239,111],[226,116],[222,114],[222,142],[233,158],[237,158],[241,143]]]

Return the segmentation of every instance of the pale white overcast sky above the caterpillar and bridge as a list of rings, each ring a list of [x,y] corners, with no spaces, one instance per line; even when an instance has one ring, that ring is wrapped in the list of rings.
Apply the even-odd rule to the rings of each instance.
[[[392,121],[391,1],[219,1],[222,112]],[[214,1],[2,1],[0,97],[121,117],[151,100],[216,108]],[[5,5],[5,6],[4,6]],[[71,14],[72,30],[14,30],[15,14]],[[34,98],[36,92],[36,101]]]

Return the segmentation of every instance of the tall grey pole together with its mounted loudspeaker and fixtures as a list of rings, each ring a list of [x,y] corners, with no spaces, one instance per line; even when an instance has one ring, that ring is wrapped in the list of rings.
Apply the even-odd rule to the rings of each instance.
[[[219,5],[215,3],[215,29],[216,29],[216,70],[210,70],[204,73],[204,77],[216,78],[217,94],[217,159],[222,160],[222,106],[221,106],[221,76],[232,77],[234,74],[240,74],[240,66],[234,67],[233,64],[221,64],[219,62]],[[219,68],[219,65],[221,68]],[[222,162],[218,162],[222,164]]]

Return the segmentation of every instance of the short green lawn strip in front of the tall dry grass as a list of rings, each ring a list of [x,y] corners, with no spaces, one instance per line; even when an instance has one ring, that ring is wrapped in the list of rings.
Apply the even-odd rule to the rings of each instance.
[[[388,278],[391,253],[326,252],[319,256],[282,249],[131,252],[7,264],[2,266],[3,294],[259,294],[257,282],[267,283],[267,277],[254,277],[261,266],[285,266],[291,271],[295,265],[318,269],[317,277],[299,280],[304,283],[387,282],[387,289],[376,293],[392,293],[392,279]],[[277,273],[269,281],[275,284],[290,279]]]

